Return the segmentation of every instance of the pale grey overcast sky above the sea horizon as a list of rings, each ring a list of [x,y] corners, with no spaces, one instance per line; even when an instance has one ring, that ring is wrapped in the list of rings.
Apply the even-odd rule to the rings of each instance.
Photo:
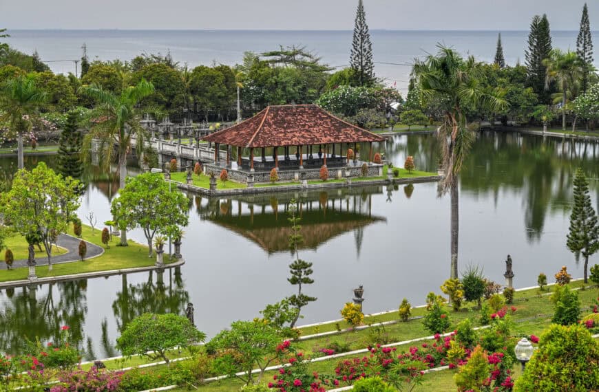
[[[370,29],[578,30],[582,0],[364,0]],[[350,30],[357,0],[0,0],[9,29]],[[590,1],[591,28],[599,3]]]

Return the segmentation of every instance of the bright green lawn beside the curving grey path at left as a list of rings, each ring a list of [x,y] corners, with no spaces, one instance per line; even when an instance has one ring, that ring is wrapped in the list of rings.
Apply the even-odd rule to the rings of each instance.
[[[69,234],[73,235],[72,227]],[[83,225],[83,239],[98,246],[103,246],[101,241],[101,230],[94,230]],[[48,265],[36,267],[36,274],[39,278],[48,276],[61,276],[70,274],[81,274],[84,272],[97,272],[119,270],[122,268],[148,267],[156,263],[156,257],[148,257],[147,246],[129,241],[129,246],[116,246],[120,240],[114,237],[110,243],[110,248],[106,249],[104,254],[94,259],[85,261],[74,261],[73,263],[54,264],[52,272],[48,272]],[[16,257],[15,257],[16,259]],[[168,261],[165,261],[168,263]],[[0,282],[17,281],[27,279],[28,268],[15,268],[14,270],[0,271]]]

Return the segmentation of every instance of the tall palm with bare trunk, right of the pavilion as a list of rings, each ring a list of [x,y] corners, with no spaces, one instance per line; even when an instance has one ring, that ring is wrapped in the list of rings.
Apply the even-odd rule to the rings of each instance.
[[[467,127],[465,109],[478,108],[490,113],[505,109],[503,91],[485,91],[479,78],[481,64],[454,50],[438,45],[437,55],[417,60],[412,78],[418,83],[423,102],[441,107],[443,119],[437,131],[441,142],[441,166],[445,177],[439,182],[439,195],[451,195],[451,277],[458,277],[459,188],[458,175],[470,150],[474,135]]]

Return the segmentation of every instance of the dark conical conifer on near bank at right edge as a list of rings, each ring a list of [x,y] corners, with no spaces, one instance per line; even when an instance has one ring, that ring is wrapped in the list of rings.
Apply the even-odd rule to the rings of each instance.
[[[585,258],[585,283],[589,256],[599,250],[599,222],[589,196],[589,182],[582,168],[574,177],[574,206],[570,215],[570,229],[566,245],[574,254]]]

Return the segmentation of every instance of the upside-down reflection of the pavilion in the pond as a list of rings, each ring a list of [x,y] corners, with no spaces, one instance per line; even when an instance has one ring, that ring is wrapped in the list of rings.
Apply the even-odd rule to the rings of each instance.
[[[288,221],[292,200],[297,200],[304,241],[300,248],[315,250],[318,246],[346,232],[354,232],[356,241],[366,226],[386,222],[386,217],[372,215],[372,194],[381,193],[379,186],[350,190],[328,190],[319,193],[285,193],[258,195],[238,199],[209,199],[196,206],[202,219],[237,232],[258,244],[266,252],[289,250],[291,224]],[[358,246],[359,252],[359,246]]]

